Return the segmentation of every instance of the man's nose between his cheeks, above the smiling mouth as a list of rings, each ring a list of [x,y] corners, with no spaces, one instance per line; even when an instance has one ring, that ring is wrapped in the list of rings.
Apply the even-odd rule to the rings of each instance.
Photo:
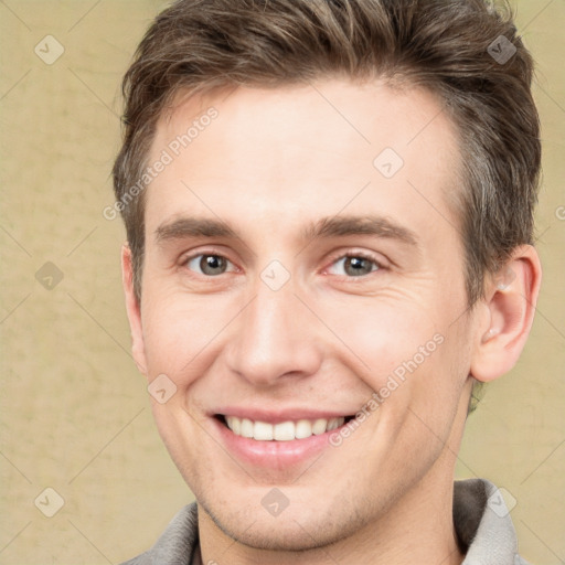
[[[315,374],[322,363],[320,328],[292,279],[278,290],[259,279],[255,290],[224,349],[230,370],[255,386]]]

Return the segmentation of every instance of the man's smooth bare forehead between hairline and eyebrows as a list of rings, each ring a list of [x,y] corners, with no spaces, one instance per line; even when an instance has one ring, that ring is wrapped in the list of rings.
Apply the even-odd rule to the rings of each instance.
[[[149,162],[163,157],[147,194],[148,230],[186,213],[270,217],[282,228],[345,206],[418,209],[434,228],[451,216],[445,195],[459,184],[457,135],[439,100],[379,81],[179,96]]]

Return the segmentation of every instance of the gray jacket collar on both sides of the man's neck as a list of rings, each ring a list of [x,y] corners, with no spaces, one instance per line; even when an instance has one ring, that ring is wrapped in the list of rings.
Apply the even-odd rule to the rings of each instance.
[[[527,565],[518,555],[518,541],[500,491],[483,479],[456,481],[454,524],[462,565]],[[172,519],[157,543],[122,565],[201,565],[196,503]]]

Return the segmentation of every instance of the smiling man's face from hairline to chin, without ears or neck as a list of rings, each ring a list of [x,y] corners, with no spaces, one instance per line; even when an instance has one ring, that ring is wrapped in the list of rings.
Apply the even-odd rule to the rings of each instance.
[[[149,161],[163,150],[135,351],[177,387],[154,417],[216,524],[306,548],[450,489],[475,327],[437,100],[377,82],[239,88],[180,104]]]

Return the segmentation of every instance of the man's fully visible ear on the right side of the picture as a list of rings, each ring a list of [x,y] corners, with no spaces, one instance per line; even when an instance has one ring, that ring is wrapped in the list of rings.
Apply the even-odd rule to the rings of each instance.
[[[470,371],[478,381],[493,381],[516,363],[532,328],[541,280],[540,257],[531,245],[516,247],[488,277]]]

